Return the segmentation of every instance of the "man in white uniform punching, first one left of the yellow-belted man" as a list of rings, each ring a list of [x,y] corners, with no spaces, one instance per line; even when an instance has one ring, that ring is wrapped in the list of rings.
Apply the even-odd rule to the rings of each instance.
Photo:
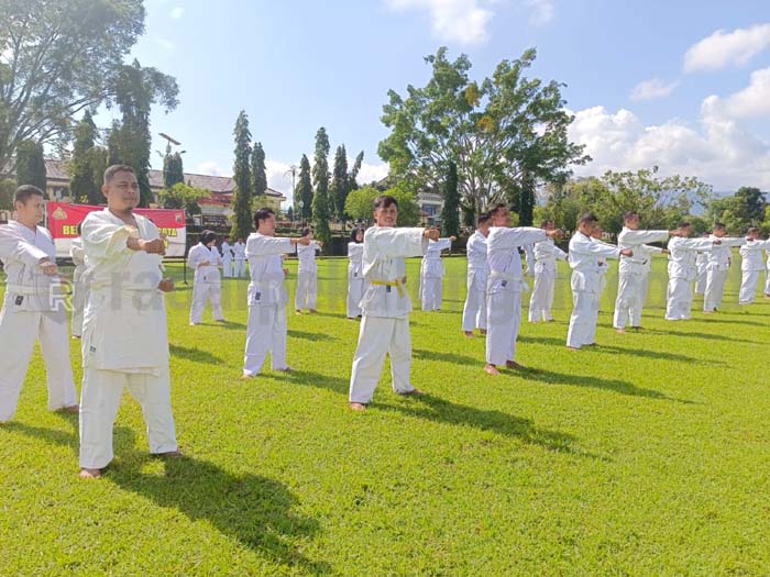
[[[254,213],[256,232],[246,238],[249,284],[249,322],[246,348],[243,356],[243,376],[255,377],[271,354],[273,370],[289,371],[286,364],[286,303],[288,292],[284,279],[283,255],[295,246],[309,246],[310,235],[301,238],[275,236],[275,212],[262,208]]]

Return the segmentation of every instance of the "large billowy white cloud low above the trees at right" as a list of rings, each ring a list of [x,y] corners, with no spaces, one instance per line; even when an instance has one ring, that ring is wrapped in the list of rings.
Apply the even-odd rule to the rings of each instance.
[[[578,111],[570,138],[585,144],[593,162],[579,176],[659,166],[663,175],[696,176],[716,190],[770,188],[770,144],[725,114],[717,97],[703,101],[700,126],[672,120],[646,126],[632,112],[604,107]]]

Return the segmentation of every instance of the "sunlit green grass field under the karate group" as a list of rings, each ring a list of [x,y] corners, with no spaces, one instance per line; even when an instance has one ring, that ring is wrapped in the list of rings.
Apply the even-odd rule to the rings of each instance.
[[[561,268],[558,322],[525,322],[528,369],[493,378],[460,332],[465,260],[448,259],[444,310],[411,317],[428,395],[397,397],[386,370],[364,413],[346,408],[345,260],[320,262],[320,314],[289,317],[292,376],[240,378],[245,280],[224,284],[226,325],[197,328],[179,285],[186,457],[150,458],[127,398],[98,481],[77,478],[77,415],[45,410],[36,352],[0,426],[0,575],[769,575],[770,301],[738,310],[734,265],[723,312],[667,323],[654,265],[646,331],[609,326],[615,264],[601,346],[579,353]]]

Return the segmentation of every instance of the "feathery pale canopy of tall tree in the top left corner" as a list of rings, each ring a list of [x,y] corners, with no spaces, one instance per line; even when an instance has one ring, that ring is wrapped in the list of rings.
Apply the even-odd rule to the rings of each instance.
[[[0,166],[25,140],[66,138],[114,96],[144,32],[142,0],[0,0]]]

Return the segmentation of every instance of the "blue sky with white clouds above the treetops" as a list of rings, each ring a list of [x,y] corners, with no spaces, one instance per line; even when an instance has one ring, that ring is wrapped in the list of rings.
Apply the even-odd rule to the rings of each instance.
[[[387,90],[424,85],[424,56],[441,45],[451,57],[465,53],[481,79],[535,46],[530,75],[568,85],[571,136],[594,157],[579,174],[657,164],[718,190],[770,189],[767,0],[147,0],[146,8],[133,55],[179,82],[179,107],[155,111],[152,130],[182,141],[187,171],[231,173],[232,127],[244,109],[274,188],[289,190],[283,175],[302,153],[311,156],[321,125],[332,152],[340,143],[350,156],[363,149],[362,176],[380,177]],[[153,148],[164,144],[155,137]]]

